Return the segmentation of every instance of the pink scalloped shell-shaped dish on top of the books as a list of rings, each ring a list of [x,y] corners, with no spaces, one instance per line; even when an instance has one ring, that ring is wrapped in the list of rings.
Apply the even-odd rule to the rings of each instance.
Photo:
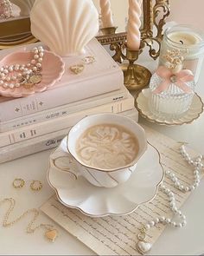
[[[0,68],[5,65],[14,64],[28,64],[34,57],[32,52],[15,52],[8,56],[5,56],[0,62]],[[29,95],[34,95],[35,93],[41,93],[46,89],[52,87],[55,82],[61,79],[65,71],[65,64],[62,61],[61,56],[55,55],[51,51],[44,51],[43,61],[42,61],[42,80],[40,83],[35,84],[31,89],[26,89],[23,86],[19,88],[3,88],[0,86],[0,95],[5,97],[26,97]]]

